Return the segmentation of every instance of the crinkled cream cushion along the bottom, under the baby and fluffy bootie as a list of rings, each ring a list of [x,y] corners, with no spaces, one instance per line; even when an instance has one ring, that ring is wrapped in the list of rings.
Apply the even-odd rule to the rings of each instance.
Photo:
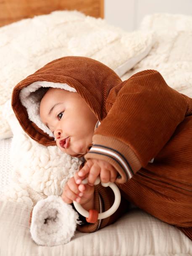
[[[132,209],[94,233],[76,232],[65,245],[38,246],[29,232],[32,207],[0,201],[0,252],[4,256],[190,256],[192,242],[176,227]]]

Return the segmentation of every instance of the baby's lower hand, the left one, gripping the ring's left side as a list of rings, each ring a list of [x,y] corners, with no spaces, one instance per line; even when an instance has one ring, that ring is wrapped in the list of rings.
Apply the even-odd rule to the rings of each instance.
[[[65,203],[76,201],[81,205],[86,204],[94,197],[94,187],[90,185],[77,185],[75,180],[78,179],[77,172],[71,177],[63,188],[61,198]],[[79,188],[78,188],[79,186]]]

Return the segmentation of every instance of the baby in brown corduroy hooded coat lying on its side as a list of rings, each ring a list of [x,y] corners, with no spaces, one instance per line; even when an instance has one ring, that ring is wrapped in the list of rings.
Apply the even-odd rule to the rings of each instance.
[[[63,201],[103,212],[114,195],[93,186],[95,179],[118,185],[118,210],[79,225],[79,231],[115,222],[132,202],[192,239],[192,99],[169,87],[158,71],[122,82],[103,63],[63,57],[18,83],[12,107],[33,140],[84,157],[63,189]],[[89,184],[82,185],[87,176]]]

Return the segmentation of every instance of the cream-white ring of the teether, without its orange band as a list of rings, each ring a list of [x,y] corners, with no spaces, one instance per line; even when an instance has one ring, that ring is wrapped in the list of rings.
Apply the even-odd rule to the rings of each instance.
[[[88,183],[88,179],[84,179],[82,181],[82,184],[87,184]],[[97,177],[94,185],[97,185],[100,183],[100,178]],[[108,183],[103,183],[101,182],[101,185],[103,187],[110,187],[112,190],[113,190],[113,193],[115,195],[115,200],[114,200],[114,203],[113,205],[111,206],[111,208],[109,208],[107,211],[104,211],[100,214],[98,214],[98,219],[105,219],[109,216],[111,216],[119,207],[120,205],[120,202],[121,202],[121,193],[117,187],[117,185],[113,182],[108,182]],[[89,212],[86,211],[81,205],[80,203],[77,203],[76,201],[73,201],[74,203],[74,206],[76,208],[76,210],[84,217],[88,218],[89,217]]]

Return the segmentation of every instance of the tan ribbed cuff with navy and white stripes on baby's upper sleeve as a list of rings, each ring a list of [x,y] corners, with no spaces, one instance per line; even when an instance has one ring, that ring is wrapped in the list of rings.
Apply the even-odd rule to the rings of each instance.
[[[110,163],[121,175],[119,182],[126,182],[131,179],[141,164],[129,146],[116,140],[113,137],[103,135],[93,136],[93,145],[89,152],[84,155],[86,160],[99,159]]]

